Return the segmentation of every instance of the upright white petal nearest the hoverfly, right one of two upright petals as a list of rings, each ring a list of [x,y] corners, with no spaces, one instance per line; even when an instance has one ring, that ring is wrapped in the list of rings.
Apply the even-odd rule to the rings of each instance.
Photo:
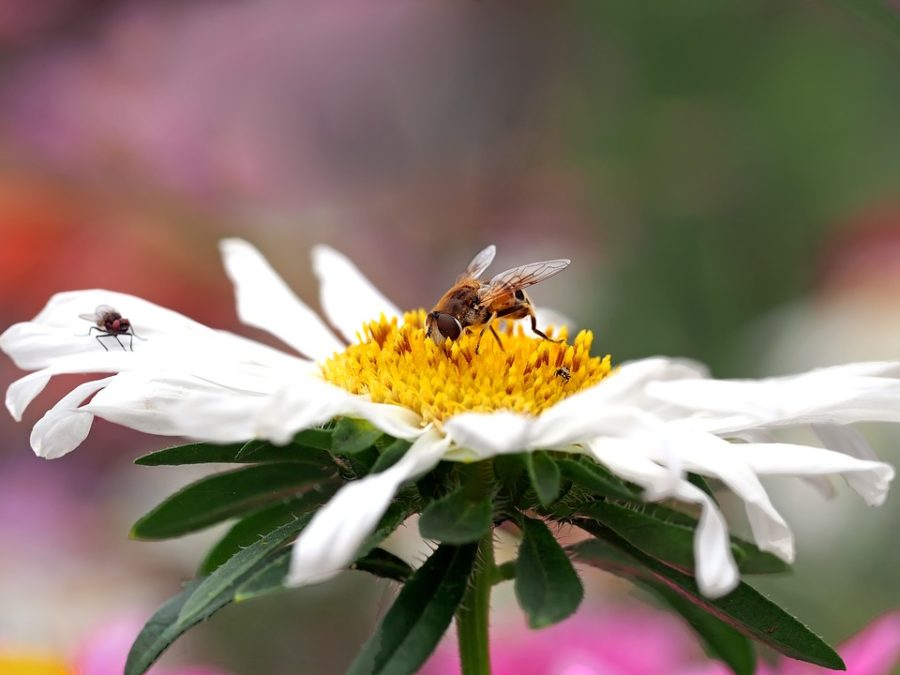
[[[375,288],[349,258],[328,246],[312,250],[313,271],[319,278],[322,311],[348,342],[367,321],[401,317],[397,307]]]

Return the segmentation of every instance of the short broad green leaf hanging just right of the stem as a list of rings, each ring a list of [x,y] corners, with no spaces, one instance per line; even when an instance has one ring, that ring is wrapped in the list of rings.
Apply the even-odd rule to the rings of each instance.
[[[581,604],[584,588],[543,521],[523,517],[522,544],[516,561],[516,597],[528,625],[543,628],[562,621]]]

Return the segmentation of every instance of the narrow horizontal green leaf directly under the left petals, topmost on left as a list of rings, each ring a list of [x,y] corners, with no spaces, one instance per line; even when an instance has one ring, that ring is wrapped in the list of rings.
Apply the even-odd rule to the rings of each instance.
[[[312,433],[314,430],[303,432]],[[317,432],[327,434],[328,432]],[[333,467],[331,455],[317,447],[307,445],[272,445],[268,441],[248,441],[216,445],[214,443],[189,443],[157,450],[138,457],[135,464],[141,466],[179,466],[183,464],[304,462]]]

